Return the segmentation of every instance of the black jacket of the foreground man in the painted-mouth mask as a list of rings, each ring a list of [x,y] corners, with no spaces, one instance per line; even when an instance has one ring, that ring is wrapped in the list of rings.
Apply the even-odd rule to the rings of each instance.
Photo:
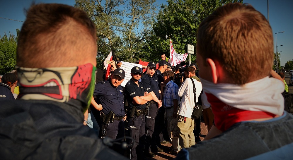
[[[124,159],[59,104],[64,107],[48,100],[1,101],[1,159]]]

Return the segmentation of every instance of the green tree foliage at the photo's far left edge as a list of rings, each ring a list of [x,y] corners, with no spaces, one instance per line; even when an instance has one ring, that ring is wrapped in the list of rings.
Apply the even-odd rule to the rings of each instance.
[[[19,29],[16,29],[17,34]],[[0,75],[14,70],[16,66],[16,48],[18,36],[9,32],[9,36],[0,36]]]

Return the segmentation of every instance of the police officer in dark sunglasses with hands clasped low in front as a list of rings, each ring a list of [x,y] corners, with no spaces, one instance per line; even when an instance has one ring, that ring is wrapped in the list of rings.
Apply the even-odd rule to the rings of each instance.
[[[158,109],[162,106],[162,94],[159,88],[159,81],[154,75],[156,71],[156,63],[149,62],[147,65],[147,74],[142,78],[142,84],[147,88],[147,92],[151,94],[152,100],[149,102],[149,112],[146,113],[146,133],[144,146],[145,154],[148,157],[155,157],[151,152],[151,137],[154,133],[155,117],[158,114]]]

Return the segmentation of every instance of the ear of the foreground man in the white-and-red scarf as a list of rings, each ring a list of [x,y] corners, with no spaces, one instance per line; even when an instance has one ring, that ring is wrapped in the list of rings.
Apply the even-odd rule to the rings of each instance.
[[[218,61],[214,61],[210,58],[206,59],[207,64],[211,68],[212,82],[214,84],[221,83],[224,76],[222,66]]]

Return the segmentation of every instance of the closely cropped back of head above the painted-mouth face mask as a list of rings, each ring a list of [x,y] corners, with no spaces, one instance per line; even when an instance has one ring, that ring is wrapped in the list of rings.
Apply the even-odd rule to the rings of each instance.
[[[17,65],[29,68],[96,64],[96,28],[79,8],[36,4],[18,38]]]

